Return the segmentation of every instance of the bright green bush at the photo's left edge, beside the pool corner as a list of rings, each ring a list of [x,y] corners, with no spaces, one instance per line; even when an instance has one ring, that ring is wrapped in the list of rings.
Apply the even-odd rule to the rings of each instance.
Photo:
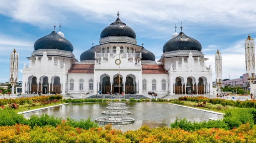
[[[0,110],[0,126],[11,126],[16,123],[27,124],[23,114],[17,114],[13,109]]]

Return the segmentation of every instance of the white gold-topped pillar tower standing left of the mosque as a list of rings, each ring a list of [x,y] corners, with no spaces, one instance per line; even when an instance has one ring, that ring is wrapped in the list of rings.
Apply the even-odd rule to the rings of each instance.
[[[18,79],[18,53],[14,49],[10,54],[10,80],[9,83],[12,85],[12,96],[14,96],[14,86]]]

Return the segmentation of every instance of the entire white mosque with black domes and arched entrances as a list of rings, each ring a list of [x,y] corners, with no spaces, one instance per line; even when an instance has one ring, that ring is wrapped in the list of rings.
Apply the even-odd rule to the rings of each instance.
[[[23,66],[22,93],[212,94],[212,69],[200,42],[182,31],[172,34],[161,59],[137,45],[136,33],[117,19],[100,33],[99,44],[73,55],[72,43],[54,31],[34,44],[29,65]]]

